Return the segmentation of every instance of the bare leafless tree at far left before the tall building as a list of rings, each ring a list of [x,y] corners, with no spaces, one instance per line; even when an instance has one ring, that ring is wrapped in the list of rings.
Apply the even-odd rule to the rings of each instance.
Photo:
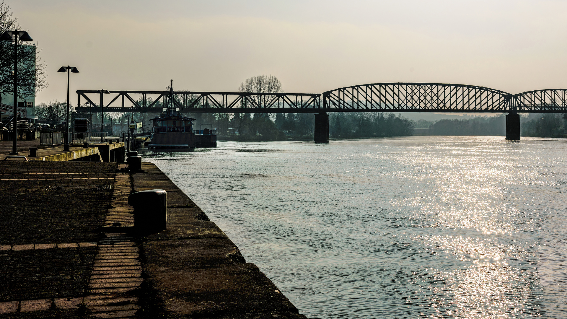
[[[12,17],[10,3],[0,2],[0,34],[4,31],[21,30]],[[41,61],[37,53],[41,52],[34,45],[26,45],[18,40],[18,98],[26,99],[36,96],[39,91],[47,87],[45,78],[45,62]],[[14,43],[0,40],[0,93],[14,94]],[[0,102],[2,102],[0,100]]]

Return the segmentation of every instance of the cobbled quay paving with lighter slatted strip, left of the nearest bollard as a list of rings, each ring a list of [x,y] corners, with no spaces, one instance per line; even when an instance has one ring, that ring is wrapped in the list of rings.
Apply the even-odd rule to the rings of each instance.
[[[0,318],[135,315],[138,247],[124,233],[99,239],[101,226],[133,226],[132,182],[117,168],[0,162],[0,192],[18,201],[0,202]]]

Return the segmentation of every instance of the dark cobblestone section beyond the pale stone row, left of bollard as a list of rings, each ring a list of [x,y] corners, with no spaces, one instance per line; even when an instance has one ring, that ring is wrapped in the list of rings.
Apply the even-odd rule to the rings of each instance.
[[[0,245],[98,241],[116,169],[116,163],[0,161]]]

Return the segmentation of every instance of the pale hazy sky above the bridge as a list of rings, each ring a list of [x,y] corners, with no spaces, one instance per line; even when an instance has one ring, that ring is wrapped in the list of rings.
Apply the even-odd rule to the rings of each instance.
[[[273,74],[286,92],[378,82],[509,93],[567,87],[567,1],[11,1],[65,100],[82,90],[236,91]],[[77,95],[71,95],[76,103]]]

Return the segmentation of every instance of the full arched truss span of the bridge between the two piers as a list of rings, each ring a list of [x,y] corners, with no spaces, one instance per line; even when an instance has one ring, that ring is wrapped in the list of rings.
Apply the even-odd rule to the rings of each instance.
[[[509,112],[512,94],[450,83],[370,83],[323,93],[331,112]]]

